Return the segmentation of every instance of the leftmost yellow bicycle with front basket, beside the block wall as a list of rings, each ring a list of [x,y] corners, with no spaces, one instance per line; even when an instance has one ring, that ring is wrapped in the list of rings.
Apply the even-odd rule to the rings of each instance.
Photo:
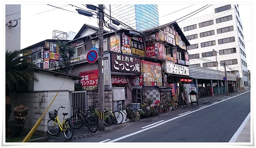
[[[62,123],[60,122],[60,119],[58,118],[58,111],[60,108],[65,107],[61,106],[58,108],[58,110],[54,109],[54,111],[49,111],[50,119],[47,122],[47,131],[52,136],[56,136],[60,133],[60,131],[62,131],[65,138],[70,140],[74,134],[73,125],[69,118],[65,118],[65,115],[68,115],[68,113],[62,113],[63,121]]]

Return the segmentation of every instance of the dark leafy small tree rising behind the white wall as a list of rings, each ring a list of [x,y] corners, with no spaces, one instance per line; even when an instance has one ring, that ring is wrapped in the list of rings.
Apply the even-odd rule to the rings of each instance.
[[[74,56],[76,49],[74,46],[70,46],[64,41],[57,41],[56,44],[60,50],[61,59],[59,61],[59,67],[60,69],[64,69],[65,73],[68,74],[71,69],[71,58]],[[60,69],[57,71],[60,72]]]

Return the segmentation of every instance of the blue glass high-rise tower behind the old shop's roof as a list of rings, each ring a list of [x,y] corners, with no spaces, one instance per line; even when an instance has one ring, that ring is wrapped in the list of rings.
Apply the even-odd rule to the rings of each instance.
[[[111,4],[110,11],[111,17],[137,31],[159,26],[158,5],[156,4]]]

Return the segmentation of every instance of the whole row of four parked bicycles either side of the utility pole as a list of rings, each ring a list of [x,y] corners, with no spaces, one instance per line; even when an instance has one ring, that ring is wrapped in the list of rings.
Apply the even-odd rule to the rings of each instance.
[[[140,119],[140,112],[137,109],[134,109],[131,107],[131,104],[129,107],[121,107],[122,104],[118,104],[118,110],[117,111],[107,111],[104,109],[104,123],[107,126],[110,126],[111,124],[120,124],[124,120],[131,119],[132,121],[139,121]],[[49,111],[49,120],[47,125],[48,133],[52,136],[56,136],[61,132],[64,133],[64,136],[67,140],[72,139],[74,134],[74,129],[80,129],[83,126],[87,126],[88,130],[92,133],[95,133],[98,130],[98,116],[99,111],[96,108],[97,104],[94,104],[93,106],[89,106],[89,109],[84,109],[84,111],[80,110],[80,106],[76,107],[75,109],[75,115],[72,115],[70,118],[65,118],[68,113],[63,113],[63,122],[61,123],[58,118],[58,111],[60,108],[65,107],[59,107],[57,110],[54,109],[54,111]],[[124,110],[125,111],[124,111]]]

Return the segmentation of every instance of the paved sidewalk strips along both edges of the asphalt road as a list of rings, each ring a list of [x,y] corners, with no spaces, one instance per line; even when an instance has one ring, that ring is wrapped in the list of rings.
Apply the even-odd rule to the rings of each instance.
[[[240,93],[247,92],[247,91],[248,90],[241,90],[241,91],[238,91],[238,92],[235,92],[235,93],[230,93],[229,96],[227,96],[226,94],[220,94],[220,95],[215,95],[215,96],[203,97],[203,98],[198,99],[199,106],[204,106],[206,104],[211,104],[211,103],[214,103],[216,101],[219,101],[219,100],[222,100],[222,99],[227,99],[230,96],[235,96],[235,95],[238,95]],[[192,107],[192,106],[188,105],[187,107]],[[177,110],[181,110],[181,109],[183,109],[182,105],[181,105],[181,108],[178,108]],[[175,113],[176,111],[172,111],[172,112]],[[167,112],[167,113],[169,113],[169,112]],[[166,113],[162,113],[162,114],[160,114],[160,116],[165,115],[165,114]],[[148,120],[148,119],[150,119],[150,118],[144,118],[144,119],[140,119],[140,120]],[[152,118],[152,120],[153,120],[153,118]],[[79,130],[74,130],[73,140],[83,139],[83,138],[88,138],[88,137],[101,136],[101,135],[105,135],[107,133],[113,133],[113,132],[116,132],[118,130],[123,129],[124,127],[126,127],[130,124],[136,124],[136,122],[125,122],[125,123],[121,123],[119,125],[116,125],[116,124],[113,123],[111,126],[105,126],[104,131],[97,131],[96,133],[90,133],[90,131],[88,130],[87,127],[82,127]],[[67,140],[65,139],[64,134],[60,133],[59,137],[49,136],[49,137],[43,137],[43,138],[40,138],[40,139],[37,139],[37,140],[32,140],[32,141],[29,141],[29,142],[67,142]],[[237,137],[235,142],[250,142],[250,119],[247,121],[247,124],[245,124],[245,127],[243,128],[242,132]]]

